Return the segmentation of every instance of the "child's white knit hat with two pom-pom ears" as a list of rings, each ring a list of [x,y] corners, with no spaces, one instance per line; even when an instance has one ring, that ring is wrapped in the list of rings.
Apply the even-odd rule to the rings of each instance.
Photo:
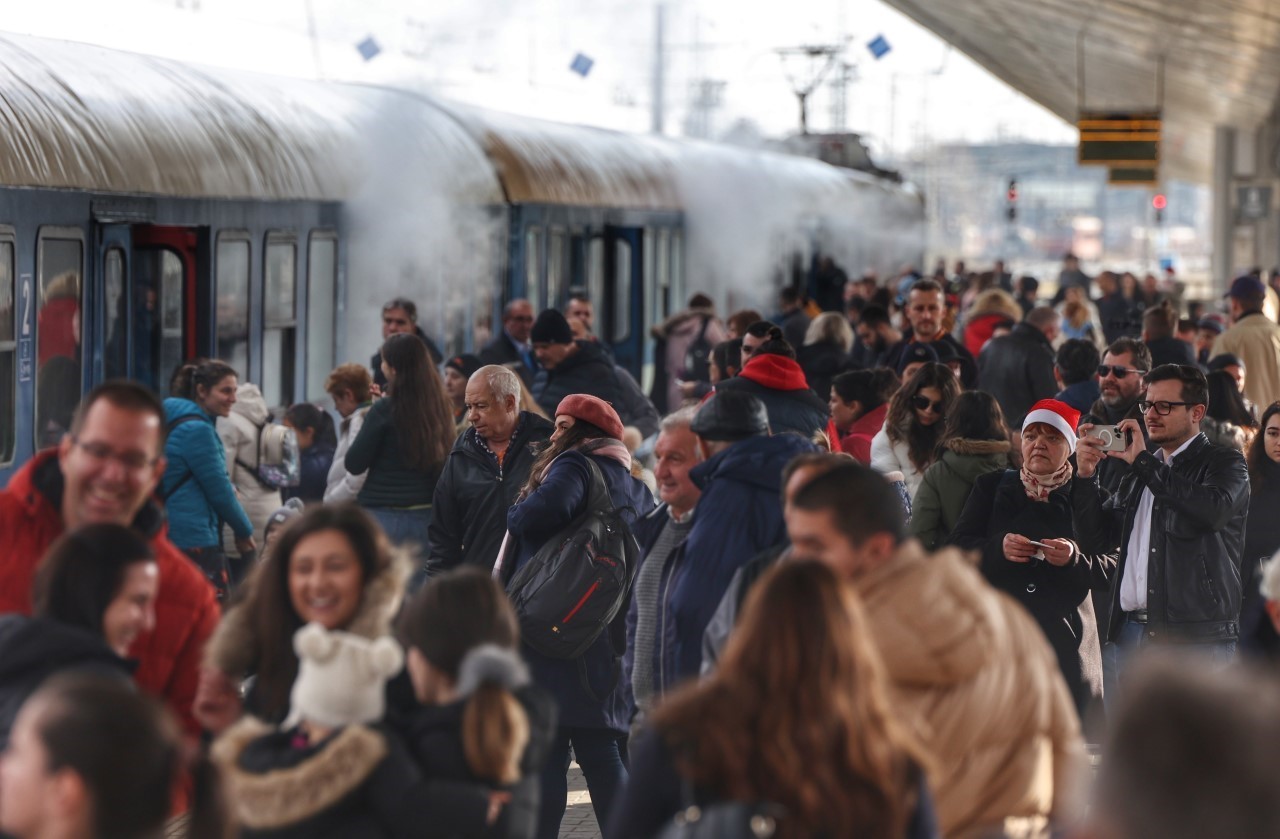
[[[383,719],[387,680],[404,666],[404,651],[394,639],[370,640],[312,623],[293,634],[293,649],[298,676],[285,728],[302,720],[343,728]]]

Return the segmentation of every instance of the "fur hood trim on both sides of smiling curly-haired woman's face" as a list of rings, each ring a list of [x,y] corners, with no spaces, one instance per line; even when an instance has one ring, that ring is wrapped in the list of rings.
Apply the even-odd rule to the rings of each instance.
[[[259,582],[270,569],[271,560],[268,560],[244,583],[250,587],[247,596],[227,611],[218,630],[205,646],[206,666],[215,667],[233,679],[243,678],[252,671],[257,661],[259,637],[250,621],[250,606],[255,601]],[[404,584],[411,570],[408,555],[393,548],[385,565],[365,583],[360,608],[343,630],[370,639],[392,634],[392,621],[404,599]]]

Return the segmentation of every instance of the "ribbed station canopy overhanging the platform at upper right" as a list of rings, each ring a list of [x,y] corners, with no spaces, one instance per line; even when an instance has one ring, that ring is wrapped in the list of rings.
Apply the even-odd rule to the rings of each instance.
[[[1272,0],[886,1],[1069,123],[1160,109],[1162,178],[1208,183],[1215,127],[1265,123],[1280,92]]]

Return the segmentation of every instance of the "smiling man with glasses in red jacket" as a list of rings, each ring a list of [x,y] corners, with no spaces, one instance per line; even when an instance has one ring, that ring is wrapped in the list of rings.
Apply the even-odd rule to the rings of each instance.
[[[163,697],[184,728],[218,601],[204,575],[165,535],[151,498],[164,474],[164,407],[133,382],[100,384],[81,403],[56,450],[37,453],[0,492],[0,614],[31,614],[31,582],[49,546],[83,524],[131,525],[151,539],[160,566],[156,620],[129,651],[134,678]]]

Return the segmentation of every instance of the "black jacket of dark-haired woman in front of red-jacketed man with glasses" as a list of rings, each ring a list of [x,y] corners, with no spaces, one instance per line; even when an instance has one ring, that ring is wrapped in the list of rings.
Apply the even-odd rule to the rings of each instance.
[[[45,679],[65,670],[129,679],[133,665],[97,635],[54,620],[26,615],[0,616],[0,751],[18,710]]]

